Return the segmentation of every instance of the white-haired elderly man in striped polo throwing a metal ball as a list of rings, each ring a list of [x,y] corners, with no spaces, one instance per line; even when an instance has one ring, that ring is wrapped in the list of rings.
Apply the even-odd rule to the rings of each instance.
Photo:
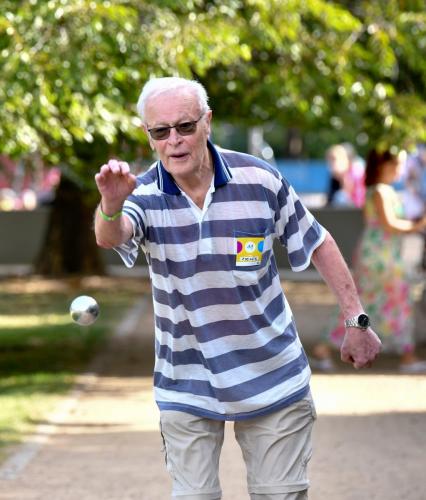
[[[209,140],[212,111],[195,81],[148,81],[138,113],[158,161],[135,177],[111,160],[96,174],[98,244],[124,263],[144,250],[154,298],[155,396],[173,498],[221,498],[224,422],[234,421],[252,500],[301,500],[315,419],[307,357],[272,251],[310,261],[347,318],[343,361],[380,350],[328,232],[265,162]]]

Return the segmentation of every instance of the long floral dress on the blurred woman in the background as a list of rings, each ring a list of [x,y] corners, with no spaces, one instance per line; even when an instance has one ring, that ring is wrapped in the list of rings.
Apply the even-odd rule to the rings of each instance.
[[[401,254],[401,235],[383,228],[373,200],[376,190],[392,200],[398,217],[403,216],[401,202],[391,186],[377,184],[368,188],[365,228],[355,255],[354,279],[383,350],[403,354],[414,350],[413,300]],[[344,335],[340,316],[338,326],[330,333],[330,340],[340,347]]]

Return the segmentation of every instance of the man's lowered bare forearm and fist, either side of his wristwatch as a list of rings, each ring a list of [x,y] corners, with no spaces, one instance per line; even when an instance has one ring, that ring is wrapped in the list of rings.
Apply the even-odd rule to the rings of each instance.
[[[364,312],[349,268],[329,233],[324,242],[315,249],[312,262],[335,294],[345,319]],[[381,342],[371,328],[361,330],[350,327],[346,330],[340,349],[341,359],[352,363],[354,368],[369,367],[379,354],[380,348]]]

